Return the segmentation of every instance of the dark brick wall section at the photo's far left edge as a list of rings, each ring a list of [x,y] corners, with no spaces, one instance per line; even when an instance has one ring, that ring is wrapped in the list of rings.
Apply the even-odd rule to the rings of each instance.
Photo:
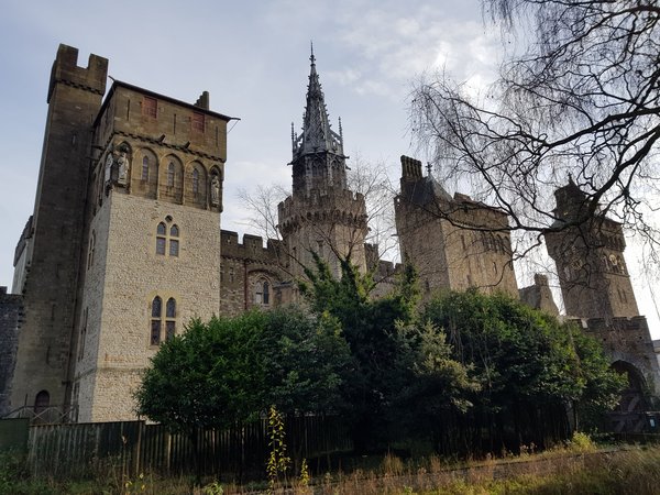
[[[11,410],[9,395],[22,315],[23,297],[7,294],[7,287],[0,287],[0,418]]]

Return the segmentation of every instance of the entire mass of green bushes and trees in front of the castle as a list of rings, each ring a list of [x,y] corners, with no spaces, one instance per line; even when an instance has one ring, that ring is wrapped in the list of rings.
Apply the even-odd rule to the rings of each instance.
[[[546,449],[570,437],[570,420],[592,428],[625,385],[597,342],[507,296],[450,292],[419,308],[411,267],[371,298],[370,275],[348,260],[340,278],[315,262],[300,285],[307,310],[196,320],[165,342],[139,413],[193,438],[271,406],[331,413],[356,453],[471,457]],[[298,468],[300,452],[290,455]]]

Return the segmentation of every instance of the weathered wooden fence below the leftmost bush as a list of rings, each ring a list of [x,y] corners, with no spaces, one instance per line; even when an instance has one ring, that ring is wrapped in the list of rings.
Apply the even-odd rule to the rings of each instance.
[[[266,419],[222,431],[199,429],[197,442],[204,474],[239,480],[263,475],[270,452]],[[336,417],[287,420],[286,443],[289,457],[298,461],[352,448]],[[195,469],[188,436],[144,421],[34,426],[28,462],[34,475],[56,479],[109,472],[179,475]]]

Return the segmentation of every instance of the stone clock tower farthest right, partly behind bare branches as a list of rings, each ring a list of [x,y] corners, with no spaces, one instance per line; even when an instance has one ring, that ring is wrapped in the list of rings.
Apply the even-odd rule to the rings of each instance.
[[[624,260],[620,223],[590,215],[586,195],[570,179],[554,193],[556,231],[546,234],[557,264],[566,315],[579,318],[639,316]]]

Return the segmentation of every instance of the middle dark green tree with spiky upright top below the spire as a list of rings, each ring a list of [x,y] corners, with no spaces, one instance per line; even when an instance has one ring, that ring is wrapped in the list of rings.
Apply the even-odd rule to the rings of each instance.
[[[468,391],[477,384],[454,361],[444,334],[417,320],[417,274],[407,266],[388,296],[370,297],[373,283],[350,260],[340,260],[342,275],[314,255],[301,284],[312,310],[336,319],[351,350],[341,388],[342,414],[354,448],[382,447],[405,431],[427,436],[436,430],[439,410],[465,410]],[[431,430],[427,430],[429,427]]]

